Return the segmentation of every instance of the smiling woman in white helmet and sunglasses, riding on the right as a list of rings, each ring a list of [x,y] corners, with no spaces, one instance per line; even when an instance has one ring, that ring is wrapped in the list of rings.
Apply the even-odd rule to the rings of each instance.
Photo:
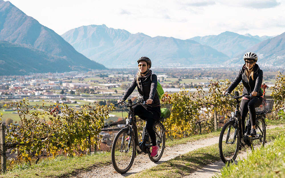
[[[256,135],[255,131],[255,119],[256,112],[255,107],[258,107],[262,104],[262,78],[263,72],[256,64],[257,55],[253,52],[245,53],[243,56],[245,60],[245,64],[242,69],[239,71],[235,80],[231,83],[229,88],[223,92],[231,93],[235,87],[242,81],[243,83],[243,94],[247,96],[243,97],[241,100],[241,119],[242,119],[242,127],[243,127],[243,135],[245,135],[245,118],[247,113],[249,112],[249,117],[251,120],[251,135]],[[250,97],[250,94],[252,97]]]

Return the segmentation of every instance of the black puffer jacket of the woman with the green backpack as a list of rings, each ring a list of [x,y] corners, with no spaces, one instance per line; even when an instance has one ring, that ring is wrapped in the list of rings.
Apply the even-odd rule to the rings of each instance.
[[[151,106],[160,105],[159,97],[156,93],[157,76],[155,74],[152,74],[151,70],[149,70],[144,77],[139,77],[139,83],[137,83],[137,77],[135,76],[130,87],[127,89],[124,96],[122,97],[122,100],[125,101],[131,95],[131,93],[133,93],[136,87],[139,91],[139,101],[146,101],[148,99],[152,99],[153,101],[150,104]]]

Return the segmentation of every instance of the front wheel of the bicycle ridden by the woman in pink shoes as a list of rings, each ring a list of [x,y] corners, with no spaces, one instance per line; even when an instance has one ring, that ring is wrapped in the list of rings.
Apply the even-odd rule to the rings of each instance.
[[[129,129],[120,130],[114,138],[111,148],[112,165],[114,169],[124,174],[133,165],[136,155],[136,143],[134,141],[134,135],[131,137],[131,144],[129,144]]]

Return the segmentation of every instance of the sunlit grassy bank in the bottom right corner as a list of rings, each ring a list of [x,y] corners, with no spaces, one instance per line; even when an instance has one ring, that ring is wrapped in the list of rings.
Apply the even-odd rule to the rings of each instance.
[[[262,147],[247,156],[243,162],[223,167],[215,177],[285,177],[285,127],[273,144]],[[273,130],[273,129],[272,129]]]

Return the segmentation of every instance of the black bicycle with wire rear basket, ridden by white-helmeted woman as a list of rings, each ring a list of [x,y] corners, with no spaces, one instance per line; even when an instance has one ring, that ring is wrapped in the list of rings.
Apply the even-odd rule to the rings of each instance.
[[[246,96],[246,94],[239,96],[239,93],[236,91],[234,96],[227,92],[225,95],[221,96],[230,96],[237,103],[235,112],[231,112],[231,117],[223,126],[219,137],[219,154],[221,160],[224,163],[232,163],[235,161],[238,151],[241,150],[241,144],[248,145],[251,147],[252,151],[254,151],[254,149],[257,147],[265,145],[267,126],[265,117],[267,113],[271,112],[274,100],[263,100],[262,105],[260,105],[262,107],[256,108],[257,117],[255,127],[257,134],[255,136],[251,136],[251,122],[249,115],[247,115],[245,135],[242,133],[241,126],[242,123],[239,99]]]

